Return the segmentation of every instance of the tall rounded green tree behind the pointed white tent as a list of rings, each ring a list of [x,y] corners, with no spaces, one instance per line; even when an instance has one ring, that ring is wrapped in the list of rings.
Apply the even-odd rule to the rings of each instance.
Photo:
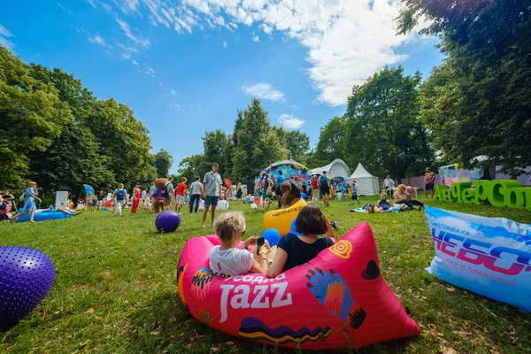
[[[419,174],[431,164],[419,112],[419,73],[404,76],[402,66],[386,67],[352,89],[345,118],[345,154],[380,176]],[[416,168],[413,168],[417,166]]]

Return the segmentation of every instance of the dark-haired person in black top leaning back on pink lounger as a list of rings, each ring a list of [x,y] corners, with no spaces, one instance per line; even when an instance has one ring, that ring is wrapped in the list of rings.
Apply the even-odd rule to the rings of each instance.
[[[334,231],[318,206],[304,206],[296,217],[295,226],[296,232],[303,235],[286,234],[281,238],[273,262],[267,267],[268,278],[304,265],[335,242]],[[319,235],[324,237],[318,238]]]

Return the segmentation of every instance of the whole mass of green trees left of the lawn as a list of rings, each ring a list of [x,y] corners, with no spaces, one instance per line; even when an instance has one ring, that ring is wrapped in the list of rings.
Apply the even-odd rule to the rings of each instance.
[[[98,100],[73,75],[0,47],[0,189],[35,180],[44,192],[79,193],[83,183],[152,181],[150,149],[149,131],[126,104]]]

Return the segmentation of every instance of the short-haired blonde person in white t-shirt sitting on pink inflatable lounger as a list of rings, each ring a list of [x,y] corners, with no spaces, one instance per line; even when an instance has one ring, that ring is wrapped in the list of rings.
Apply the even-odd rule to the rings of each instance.
[[[266,274],[268,262],[274,257],[276,247],[270,247],[268,242],[260,248],[257,254],[258,237],[251,236],[238,248],[238,243],[245,235],[245,217],[242,212],[226,212],[214,221],[214,231],[221,240],[220,246],[214,246],[210,254],[212,274],[220,278],[228,278],[246,273]],[[249,246],[254,246],[251,251]]]

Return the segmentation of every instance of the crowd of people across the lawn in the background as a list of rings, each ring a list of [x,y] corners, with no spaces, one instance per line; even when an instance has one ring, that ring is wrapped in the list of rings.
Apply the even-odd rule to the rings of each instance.
[[[188,179],[182,177],[175,187],[173,177],[158,178],[150,188],[142,187],[140,183],[136,183],[131,193],[127,193],[124,184],[119,183],[112,193],[107,193],[106,195],[103,190],[100,190],[96,195],[89,193],[88,196],[72,197],[67,202],[67,208],[58,208],[54,212],[77,215],[87,209],[102,210],[106,207],[112,209],[116,214],[122,215],[123,208],[130,208],[132,213],[136,213],[139,209],[162,212],[174,207],[175,212],[181,214],[184,204],[189,204],[189,212],[192,213],[198,212],[203,201],[202,226],[206,227],[209,213],[210,224],[213,226],[219,200],[235,199],[236,203],[241,203],[244,195],[243,186],[240,182],[237,183],[235,189],[231,188],[231,186],[224,187],[218,170],[219,165],[214,163],[212,164],[212,171],[204,174],[203,181],[201,181],[201,177],[196,176],[195,181],[188,184]],[[427,197],[431,193],[433,197],[435,173],[432,173],[429,168],[426,170],[424,175],[426,183],[425,196]],[[404,184],[400,184],[395,191],[395,181],[391,179],[389,174],[383,180],[382,189],[381,199],[376,204],[366,204],[368,212],[389,210],[392,205],[389,204],[388,198],[394,199],[394,204],[405,205],[408,209],[421,210],[424,206],[419,201],[412,199],[412,196],[407,193]],[[273,181],[266,174],[263,176],[261,188],[258,189],[257,195],[261,200],[262,208],[269,210],[273,200],[278,202],[277,207],[280,209],[289,208],[301,198],[308,198],[310,203],[319,204],[319,200],[322,197],[325,206],[329,206],[331,197],[339,193],[342,194],[342,197],[350,196],[351,204],[355,202],[360,204],[357,181],[344,183],[343,185],[335,183],[330,179],[326,171],[323,171],[319,176],[314,175],[311,181],[303,181],[296,176],[285,176],[282,171],[278,172],[276,179]],[[35,212],[50,211],[50,208],[37,210],[35,201],[39,203],[42,201],[39,198],[35,181],[31,181],[28,184],[26,191],[19,197],[19,200],[24,201],[24,206],[21,209],[22,212],[17,213],[16,198],[8,190],[0,193],[0,220],[14,221],[23,215],[29,214],[30,222],[34,222]]]

